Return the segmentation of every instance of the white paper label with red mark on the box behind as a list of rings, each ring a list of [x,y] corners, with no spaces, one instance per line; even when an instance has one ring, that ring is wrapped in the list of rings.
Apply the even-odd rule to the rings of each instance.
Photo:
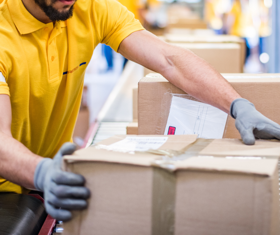
[[[228,114],[209,104],[173,96],[164,134],[197,134],[197,138],[223,137]]]

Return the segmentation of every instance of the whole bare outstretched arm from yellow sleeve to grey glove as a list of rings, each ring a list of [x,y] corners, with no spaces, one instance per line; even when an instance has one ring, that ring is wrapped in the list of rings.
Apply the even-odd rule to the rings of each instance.
[[[241,96],[210,64],[185,48],[170,45],[141,30],[125,38],[119,52],[155,72],[200,101],[227,113]]]

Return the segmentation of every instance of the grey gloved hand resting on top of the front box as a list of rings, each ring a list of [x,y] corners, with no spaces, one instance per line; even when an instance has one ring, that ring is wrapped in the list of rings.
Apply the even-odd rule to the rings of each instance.
[[[234,100],[230,114],[235,119],[235,126],[245,144],[255,144],[255,138],[280,139],[280,125],[262,115],[248,100]]]

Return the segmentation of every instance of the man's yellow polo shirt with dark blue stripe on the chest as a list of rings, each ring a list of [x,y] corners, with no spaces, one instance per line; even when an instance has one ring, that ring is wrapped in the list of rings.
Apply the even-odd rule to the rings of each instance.
[[[117,51],[124,38],[143,29],[115,0],[78,0],[73,17],[55,25],[35,19],[21,0],[3,0],[0,94],[10,95],[13,137],[53,157],[71,140],[94,48],[105,43]],[[24,188],[0,178],[0,191]]]

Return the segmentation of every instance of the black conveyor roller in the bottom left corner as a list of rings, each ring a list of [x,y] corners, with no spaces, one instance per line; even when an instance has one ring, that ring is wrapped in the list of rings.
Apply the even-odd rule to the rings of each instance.
[[[1,235],[38,235],[46,217],[44,204],[39,199],[0,193]]]

